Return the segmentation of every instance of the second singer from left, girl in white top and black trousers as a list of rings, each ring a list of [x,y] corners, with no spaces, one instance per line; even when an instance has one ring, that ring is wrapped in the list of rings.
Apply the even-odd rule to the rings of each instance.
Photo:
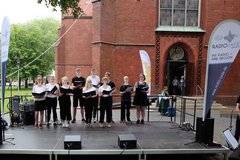
[[[57,95],[59,93],[59,85],[55,83],[54,76],[48,76],[48,83],[46,84],[47,90],[47,98],[46,98],[46,106],[47,106],[47,127],[49,127],[50,118],[51,118],[51,110],[53,111],[53,125],[57,127]]]

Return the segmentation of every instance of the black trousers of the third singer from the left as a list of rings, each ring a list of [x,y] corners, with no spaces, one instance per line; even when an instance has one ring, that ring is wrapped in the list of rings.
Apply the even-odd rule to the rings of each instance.
[[[62,95],[59,97],[61,120],[71,120],[71,99],[70,96]]]

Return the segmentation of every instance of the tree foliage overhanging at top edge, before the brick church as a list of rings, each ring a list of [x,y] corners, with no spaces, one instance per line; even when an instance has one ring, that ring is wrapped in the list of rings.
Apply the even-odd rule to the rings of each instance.
[[[54,10],[60,7],[63,14],[72,12],[74,18],[78,18],[83,12],[78,6],[80,0],[38,0],[38,3],[45,2],[46,6],[52,6]]]

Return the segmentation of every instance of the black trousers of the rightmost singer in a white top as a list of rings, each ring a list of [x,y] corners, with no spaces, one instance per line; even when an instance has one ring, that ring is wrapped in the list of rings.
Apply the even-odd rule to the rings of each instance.
[[[112,100],[111,97],[101,97],[100,99],[100,123],[104,122],[105,112],[107,115],[107,123],[112,121]]]

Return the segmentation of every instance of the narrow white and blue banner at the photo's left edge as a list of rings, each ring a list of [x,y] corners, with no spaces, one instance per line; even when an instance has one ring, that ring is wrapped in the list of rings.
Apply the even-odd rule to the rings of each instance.
[[[8,17],[4,17],[1,32],[1,89],[2,89],[2,113],[4,113],[4,98],[6,86],[7,59],[10,44],[10,23]]]

